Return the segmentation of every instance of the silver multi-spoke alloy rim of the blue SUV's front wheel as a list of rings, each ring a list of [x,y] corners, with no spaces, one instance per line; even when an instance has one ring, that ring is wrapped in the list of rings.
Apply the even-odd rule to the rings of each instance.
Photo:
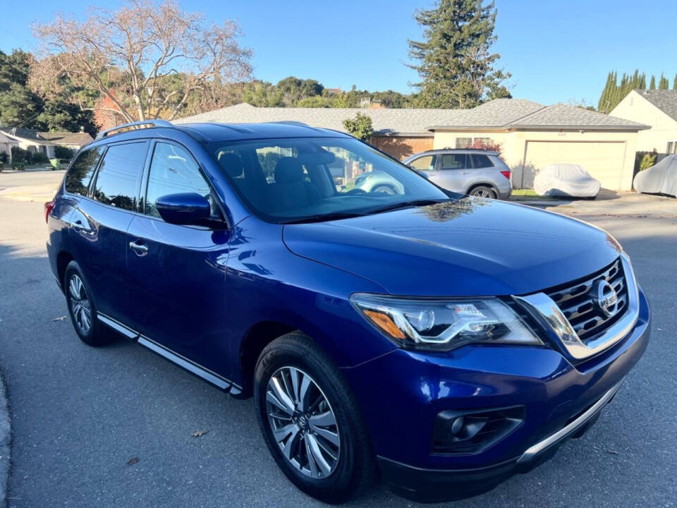
[[[283,456],[310,478],[327,478],[341,452],[336,415],[315,380],[295,367],[282,367],[266,389],[270,428]]]

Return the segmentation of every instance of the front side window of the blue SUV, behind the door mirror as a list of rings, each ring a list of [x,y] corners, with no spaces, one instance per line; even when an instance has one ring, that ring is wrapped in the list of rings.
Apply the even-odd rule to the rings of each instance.
[[[159,217],[157,198],[168,194],[197,193],[212,198],[212,191],[200,173],[195,159],[183,148],[169,143],[157,143],[150,164],[145,212]],[[212,202],[212,214],[215,211]]]

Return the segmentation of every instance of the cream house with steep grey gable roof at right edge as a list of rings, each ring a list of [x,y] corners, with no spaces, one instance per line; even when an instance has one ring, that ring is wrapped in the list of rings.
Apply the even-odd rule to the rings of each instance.
[[[677,153],[677,90],[633,90],[611,114],[651,127],[638,133],[638,152]]]

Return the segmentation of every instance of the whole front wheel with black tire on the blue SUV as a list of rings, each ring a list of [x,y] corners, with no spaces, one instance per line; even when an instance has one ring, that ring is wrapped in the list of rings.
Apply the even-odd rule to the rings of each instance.
[[[300,490],[340,503],[370,484],[374,458],[358,402],[310,337],[291,332],[266,346],[254,400],[268,449]]]

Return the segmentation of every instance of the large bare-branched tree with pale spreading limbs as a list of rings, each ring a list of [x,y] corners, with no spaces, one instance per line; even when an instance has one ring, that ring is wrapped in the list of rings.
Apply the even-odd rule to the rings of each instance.
[[[201,13],[182,11],[173,0],[90,8],[83,21],[59,14],[33,32],[42,44],[31,69],[34,90],[47,93],[68,77],[97,90],[126,121],[171,120],[191,97],[212,95],[251,73],[252,52],[238,44],[237,23],[207,25]],[[73,97],[87,107],[80,99]]]

